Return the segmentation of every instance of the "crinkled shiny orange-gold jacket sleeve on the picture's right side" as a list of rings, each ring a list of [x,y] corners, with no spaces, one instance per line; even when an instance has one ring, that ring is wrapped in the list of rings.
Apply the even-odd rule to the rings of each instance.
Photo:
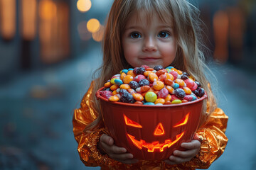
[[[210,164],[223,154],[228,143],[228,138],[225,135],[227,123],[228,116],[225,115],[223,110],[216,108],[210,114],[208,121],[197,131],[197,134],[203,138],[200,152],[190,162],[184,163],[183,166],[208,169]]]

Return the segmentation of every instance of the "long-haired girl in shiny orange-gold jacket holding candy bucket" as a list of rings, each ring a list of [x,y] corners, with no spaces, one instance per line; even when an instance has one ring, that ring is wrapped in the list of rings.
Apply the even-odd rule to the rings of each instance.
[[[80,159],[102,169],[207,169],[223,153],[228,116],[215,107],[203,74],[203,52],[198,37],[196,8],[185,0],[114,0],[103,43],[103,64],[73,117],[73,132]],[[207,111],[185,151],[176,150],[164,161],[133,158],[114,145],[105,130],[95,91],[120,70],[141,65],[174,66],[188,72],[208,93]],[[206,67],[207,68],[207,67]],[[200,141],[200,142],[199,142]]]

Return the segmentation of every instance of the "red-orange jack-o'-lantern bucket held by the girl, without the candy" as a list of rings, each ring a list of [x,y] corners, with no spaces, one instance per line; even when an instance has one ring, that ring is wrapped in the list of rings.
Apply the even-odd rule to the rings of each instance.
[[[114,144],[136,159],[168,159],[182,142],[190,142],[198,129],[203,100],[162,106],[110,102],[100,96],[102,117]]]

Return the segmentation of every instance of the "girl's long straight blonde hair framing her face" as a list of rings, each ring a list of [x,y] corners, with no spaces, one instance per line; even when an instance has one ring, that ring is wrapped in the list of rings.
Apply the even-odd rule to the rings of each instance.
[[[208,80],[204,72],[208,67],[204,63],[203,45],[201,43],[201,28],[198,20],[198,9],[186,0],[114,0],[110,10],[105,37],[102,43],[103,63],[97,71],[101,72],[100,77],[95,80],[97,85],[95,90],[100,89],[107,79],[117,74],[124,68],[131,65],[124,58],[122,50],[122,33],[129,16],[134,12],[143,11],[147,14],[148,21],[155,13],[166,23],[173,23],[174,35],[177,42],[177,54],[171,64],[176,69],[187,72],[197,81],[208,94],[210,109],[206,113],[206,104],[203,108],[204,119],[208,117],[215,107],[215,98],[208,87]],[[208,69],[209,71],[210,69]],[[97,103],[97,102],[96,102]],[[100,111],[97,103],[97,111]],[[90,127],[95,127],[102,120],[101,114]]]

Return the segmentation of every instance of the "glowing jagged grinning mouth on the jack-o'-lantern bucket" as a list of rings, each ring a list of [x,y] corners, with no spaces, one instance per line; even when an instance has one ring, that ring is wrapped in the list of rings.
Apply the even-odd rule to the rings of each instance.
[[[145,147],[148,149],[148,152],[154,152],[155,149],[159,149],[160,152],[164,151],[164,148],[171,147],[171,145],[174,145],[178,140],[181,139],[181,137],[184,135],[184,132],[176,135],[176,140],[165,140],[164,143],[159,143],[159,141],[154,141],[151,143],[147,143],[144,140],[136,140],[134,136],[127,134],[130,140],[132,140],[133,144],[138,147],[139,149],[142,149],[142,147]]]

